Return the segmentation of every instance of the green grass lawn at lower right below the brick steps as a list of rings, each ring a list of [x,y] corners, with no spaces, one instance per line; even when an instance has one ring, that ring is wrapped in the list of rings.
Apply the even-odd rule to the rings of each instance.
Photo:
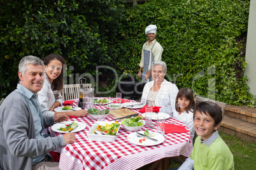
[[[220,131],[219,134],[225,141],[225,143],[227,143],[229,149],[234,155],[235,169],[256,169],[256,143],[250,143],[248,141],[240,140],[236,136],[221,133]],[[178,164],[177,162],[173,162],[170,168],[179,166],[180,164]]]

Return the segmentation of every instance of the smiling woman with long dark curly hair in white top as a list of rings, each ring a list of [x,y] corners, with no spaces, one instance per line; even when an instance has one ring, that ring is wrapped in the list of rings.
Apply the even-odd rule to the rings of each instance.
[[[45,84],[38,92],[38,100],[41,105],[43,115],[50,117],[55,114],[55,107],[62,105],[63,98],[60,93],[63,89],[63,65],[66,63],[61,55],[51,54],[43,60],[45,64]],[[86,110],[76,110],[65,112],[68,116],[84,117]]]

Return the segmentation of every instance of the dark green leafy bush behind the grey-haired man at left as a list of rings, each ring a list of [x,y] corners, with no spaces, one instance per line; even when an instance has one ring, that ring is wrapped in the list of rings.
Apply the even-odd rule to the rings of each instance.
[[[96,65],[110,65],[108,44],[118,34],[123,3],[124,0],[1,1],[0,96],[16,88],[18,63],[26,55],[43,59],[50,53],[59,53],[68,62],[68,74],[95,75]],[[76,77],[71,77],[68,83],[73,84],[74,80]]]

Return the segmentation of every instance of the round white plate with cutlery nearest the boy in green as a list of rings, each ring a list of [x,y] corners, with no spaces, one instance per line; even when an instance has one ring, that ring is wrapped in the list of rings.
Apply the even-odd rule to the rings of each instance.
[[[139,133],[144,134],[144,131],[139,131]],[[150,132],[153,133],[153,132]],[[127,140],[133,144],[136,145],[141,145],[141,146],[153,146],[153,145],[159,145],[160,143],[162,143],[164,141],[164,136],[162,136],[162,134],[159,133],[154,133],[155,136],[151,137],[154,138],[155,140],[158,141],[152,141],[150,139],[145,138],[145,141],[142,141],[142,143],[139,143],[139,140],[143,139],[143,136],[137,136],[136,132],[131,133],[127,136]]]

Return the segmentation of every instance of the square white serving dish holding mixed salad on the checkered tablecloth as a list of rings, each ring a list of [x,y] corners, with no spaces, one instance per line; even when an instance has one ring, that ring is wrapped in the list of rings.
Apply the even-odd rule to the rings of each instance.
[[[117,130],[116,135],[108,135],[108,134],[95,134],[94,131],[96,130],[97,126],[102,125],[105,126],[106,124],[115,123],[115,121],[97,121],[92,125],[92,128],[87,131],[87,136],[92,141],[109,141],[113,142],[117,138],[118,131],[120,129],[120,126]]]

